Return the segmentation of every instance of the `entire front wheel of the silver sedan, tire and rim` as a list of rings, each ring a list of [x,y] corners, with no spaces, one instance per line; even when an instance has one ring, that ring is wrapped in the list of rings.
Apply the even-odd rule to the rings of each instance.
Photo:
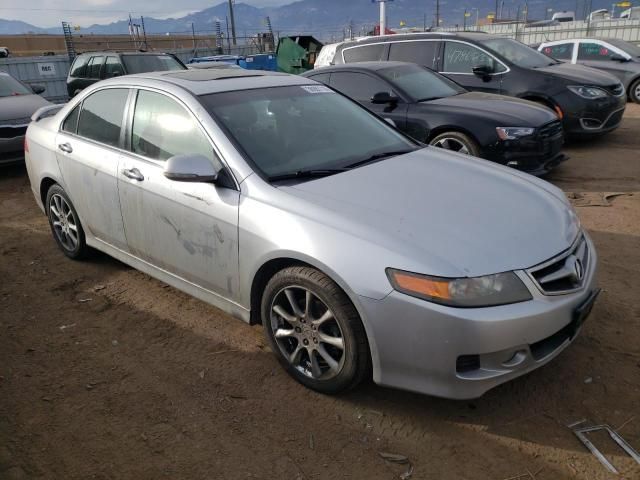
[[[318,270],[298,266],[276,273],[262,295],[260,313],[271,349],[304,386],[335,394],[368,374],[370,354],[358,312]]]

